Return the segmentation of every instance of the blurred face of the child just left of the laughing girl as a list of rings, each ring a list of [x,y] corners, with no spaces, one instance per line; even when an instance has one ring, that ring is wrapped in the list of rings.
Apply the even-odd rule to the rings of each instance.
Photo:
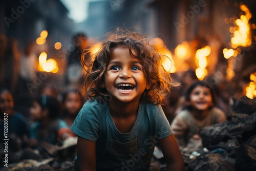
[[[81,109],[81,99],[75,92],[71,92],[67,95],[64,106],[69,114],[77,115]]]

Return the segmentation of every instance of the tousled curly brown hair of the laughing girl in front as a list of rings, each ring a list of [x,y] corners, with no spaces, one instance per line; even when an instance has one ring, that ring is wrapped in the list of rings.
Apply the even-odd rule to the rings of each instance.
[[[103,86],[104,73],[110,61],[111,51],[116,47],[127,47],[131,56],[140,59],[145,78],[151,83],[150,89],[144,91],[140,100],[160,104],[164,96],[170,93],[172,86],[172,80],[161,64],[166,56],[158,54],[140,34],[120,28],[107,34],[96,53],[92,54],[90,50],[83,51],[81,65],[86,74],[83,76],[82,94],[86,94],[87,99],[95,98],[97,101],[111,99],[111,95]],[[136,54],[132,53],[132,49]]]

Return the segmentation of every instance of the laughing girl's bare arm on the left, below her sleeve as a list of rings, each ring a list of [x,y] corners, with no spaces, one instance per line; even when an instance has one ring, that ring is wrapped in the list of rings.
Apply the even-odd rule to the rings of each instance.
[[[96,143],[78,136],[77,140],[77,166],[78,170],[96,170]]]

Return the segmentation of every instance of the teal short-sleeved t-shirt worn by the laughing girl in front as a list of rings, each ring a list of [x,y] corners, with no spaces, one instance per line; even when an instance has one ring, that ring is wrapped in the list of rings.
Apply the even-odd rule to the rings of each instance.
[[[149,170],[155,143],[172,134],[160,105],[140,103],[132,131],[122,134],[109,104],[96,100],[84,103],[71,130],[96,142],[97,170]]]

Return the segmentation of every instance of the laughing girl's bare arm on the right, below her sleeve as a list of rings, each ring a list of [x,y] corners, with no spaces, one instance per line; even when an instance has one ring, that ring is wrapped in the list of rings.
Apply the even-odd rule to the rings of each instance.
[[[167,170],[185,170],[184,160],[174,134],[159,140]]]

